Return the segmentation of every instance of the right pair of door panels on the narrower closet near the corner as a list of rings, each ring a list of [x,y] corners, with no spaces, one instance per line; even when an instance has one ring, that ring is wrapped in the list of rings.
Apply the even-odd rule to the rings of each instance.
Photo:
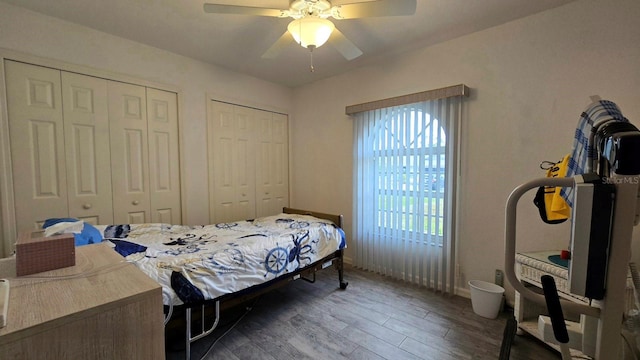
[[[287,116],[257,111],[257,216],[275,215],[289,203]]]

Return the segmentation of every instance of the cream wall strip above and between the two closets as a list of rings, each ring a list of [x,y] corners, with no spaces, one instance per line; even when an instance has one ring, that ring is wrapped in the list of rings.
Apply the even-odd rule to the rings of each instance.
[[[1,2],[0,48],[177,88],[188,224],[209,222],[202,196],[208,187],[206,95],[283,113],[291,108],[289,88]]]

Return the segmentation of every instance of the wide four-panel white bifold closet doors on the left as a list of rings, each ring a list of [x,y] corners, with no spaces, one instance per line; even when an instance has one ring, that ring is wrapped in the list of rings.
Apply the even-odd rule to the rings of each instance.
[[[16,227],[181,223],[177,96],[5,61]]]

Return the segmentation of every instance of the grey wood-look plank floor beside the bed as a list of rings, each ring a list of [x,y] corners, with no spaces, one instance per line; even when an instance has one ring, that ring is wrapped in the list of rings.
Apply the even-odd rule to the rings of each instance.
[[[192,345],[192,359],[498,359],[506,319],[473,313],[471,301],[347,268],[346,290],[325,269],[314,284],[298,280],[246,306]],[[181,330],[167,335],[167,359],[184,358]],[[210,349],[210,351],[208,351]],[[207,353],[208,351],[208,353]],[[205,355],[206,353],[206,355]],[[536,339],[516,336],[511,359],[560,359]]]

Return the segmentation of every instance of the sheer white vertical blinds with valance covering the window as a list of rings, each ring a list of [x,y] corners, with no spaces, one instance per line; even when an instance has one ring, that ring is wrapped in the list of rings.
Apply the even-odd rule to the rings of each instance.
[[[347,108],[355,115],[355,266],[449,293],[458,127],[468,96],[464,85],[451,88],[419,93],[426,100],[417,102],[407,103],[412,94]]]

